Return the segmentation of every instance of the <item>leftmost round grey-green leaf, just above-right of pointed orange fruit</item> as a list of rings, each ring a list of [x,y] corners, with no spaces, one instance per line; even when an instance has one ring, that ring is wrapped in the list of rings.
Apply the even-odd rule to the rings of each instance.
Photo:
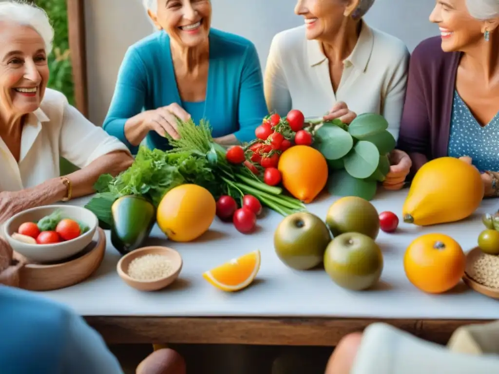
[[[353,147],[351,135],[336,125],[325,123],[315,134],[316,148],[327,160],[338,160]]]

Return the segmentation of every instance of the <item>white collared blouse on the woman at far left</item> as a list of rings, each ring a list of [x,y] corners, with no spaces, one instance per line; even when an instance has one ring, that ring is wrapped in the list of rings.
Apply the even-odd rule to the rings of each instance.
[[[47,88],[40,107],[28,114],[21,134],[19,162],[0,138],[0,190],[34,187],[59,176],[59,157],[79,168],[128,148],[89,122],[66,97]]]

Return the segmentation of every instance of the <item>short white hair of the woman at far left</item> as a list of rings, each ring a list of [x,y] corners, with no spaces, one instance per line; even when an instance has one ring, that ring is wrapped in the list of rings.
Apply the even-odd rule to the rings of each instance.
[[[33,28],[45,43],[45,52],[52,51],[54,29],[42,8],[20,0],[0,1],[0,21],[15,22]]]

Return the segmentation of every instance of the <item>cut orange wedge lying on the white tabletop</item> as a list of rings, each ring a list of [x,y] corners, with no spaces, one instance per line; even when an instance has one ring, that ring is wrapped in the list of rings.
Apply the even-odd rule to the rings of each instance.
[[[250,285],[258,270],[260,251],[255,250],[203,273],[203,277],[222,291],[239,291]]]

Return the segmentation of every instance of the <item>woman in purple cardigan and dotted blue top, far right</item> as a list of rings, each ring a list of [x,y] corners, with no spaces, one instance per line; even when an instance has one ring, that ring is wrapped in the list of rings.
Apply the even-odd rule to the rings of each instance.
[[[404,167],[387,182],[435,158],[468,156],[486,196],[498,196],[499,0],[439,0],[430,21],[441,36],[412,54],[398,139],[406,154],[396,151]]]

